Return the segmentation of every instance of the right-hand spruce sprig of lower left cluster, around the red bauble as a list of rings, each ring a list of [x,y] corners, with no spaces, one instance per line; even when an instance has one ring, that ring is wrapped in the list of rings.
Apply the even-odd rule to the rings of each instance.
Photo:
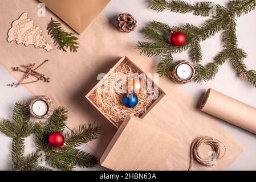
[[[75,166],[92,168],[97,164],[95,156],[87,152],[76,149],[82,143],[96,139],[100,134],[101,128],[89,124],[82,125],[78,129],[71,130],[64,135],[66,146],[55,148],[48,144],[48,136],[53,131],[63,132],[67,121],[67,109],[58,107],[52,114],[50,124],[39,122],[36,129],[36,146],[38,150],[46,153],[46,159],[51,166],[62,170],[72,170]],[[83,158],[83,160],[82,160]]]

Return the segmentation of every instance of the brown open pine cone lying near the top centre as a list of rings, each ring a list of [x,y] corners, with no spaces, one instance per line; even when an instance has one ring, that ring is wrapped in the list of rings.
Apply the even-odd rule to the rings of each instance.
[[[116,22],[119,30],[125,33],[132,32],[137,27],[136,19],[129,13],[120,14]]]

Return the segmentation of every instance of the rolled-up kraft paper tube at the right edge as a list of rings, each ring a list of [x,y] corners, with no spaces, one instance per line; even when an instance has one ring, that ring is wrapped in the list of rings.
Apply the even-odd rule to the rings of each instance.
[[[256,134],[256,108],[213,89],[203,97],[201,110]]]

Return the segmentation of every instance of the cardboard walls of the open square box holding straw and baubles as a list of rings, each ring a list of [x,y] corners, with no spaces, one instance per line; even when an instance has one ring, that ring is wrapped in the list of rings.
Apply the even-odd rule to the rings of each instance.
[[[86,98],[87,100],[89,100],[91,102],[92,105],[94,105],[96,107],[97,110],[100,111],[101,114],[103,114],[105,116],[105,118],[108,119],[108,121],[110,121],[114,126],[116,126],[117,128],[119,128],[120,124],[117,125],[117,123],[115,121],[113,121],[113,118],[108,117],[107,114],[105,114],[103,112],[103,109],[101,107],[99,107],[98,105],[95,104],[94,102],[94,98],[95,98],[95,93],[97,92],[97,89],[100,88],[102,85],[104,85],[104,81],[108,79],[109,75],[111,75],[113,72],[116,71],[117,68],[119,68],[121,65],[125,64],[125,63],[129,63],[131,64],[131,66],[133,68],[135,68],[138,72],[140,73],[144,73],[139,67],[137,67],[137,65],[135,63],[133,63],[127,56],[122,57],[115,65],[114,67],[111,69],[111,71],[109,71],[96,85],[94,88],[92,88],[92,90],[87,94]],[[145,74],[145,73],[144,73]],[[147,84],[148,82],[151,85],[152,88],[157,88],[157,93],[156,93],[156,97],[152,99],[152,102],[150,104],[150,106],[148,106],[147,108],[144,109],[143,113],[136,115],[139,118],[144,118],[145,115],[147,115],[147,113],[157,104],[157,102],[159,102],[161,100],[162,97],[165,96],[164,91],[150,78],[148,77],[147,74],[145,74],[145,77],[147,79]],[[156,86],[156,87],[155,87]],[[123,105],[123,103],[120,103],[120,107]],[[123,108],[125,109],[125,108]],[[128,115],[128,114],[127,114]],[[125,117],[127,117],[127,115],[125,115]],[[133,114],[134,115],[134,114]],[[124,118],[125,118],[124,117]],[[123,119],[124,119],[123,118]],[[123,122],[123,121],[121,121]]]

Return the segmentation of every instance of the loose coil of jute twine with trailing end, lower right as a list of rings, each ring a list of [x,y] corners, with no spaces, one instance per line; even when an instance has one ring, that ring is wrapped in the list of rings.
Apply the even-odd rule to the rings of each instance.
[[[216,152],[216,158],[214,160],[202,159],[199,155],[199,147],[204,144],[209,145],[210,147],[212,147],[213,151]],[[222,155],[221,145],[224,147],[224,152]],[[196,159],[196,161],[202,164],[202,166],[212,167],[216,160],[223,158],[225,154],[226,146],[222,142],[220,142],[220,140],[214,139],[212,137],[198,137],[194,140],[190,147],[190,164],[188,170],[190,171],[190,169],[192,168],[193,159]]]

